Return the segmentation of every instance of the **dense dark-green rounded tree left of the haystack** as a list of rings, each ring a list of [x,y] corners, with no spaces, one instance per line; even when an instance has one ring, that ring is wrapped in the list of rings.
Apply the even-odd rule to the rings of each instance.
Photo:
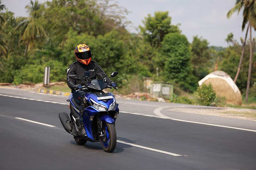
[[[159,67],[164,81],[174,81],[185,90],[194,91],[197,83],[192,75],[188,39],[179,33],[164,37],[159,52]]]

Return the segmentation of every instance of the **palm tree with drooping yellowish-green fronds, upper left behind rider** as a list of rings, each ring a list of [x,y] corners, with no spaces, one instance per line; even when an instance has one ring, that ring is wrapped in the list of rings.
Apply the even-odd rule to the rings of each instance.
[[[25,7],[27,13],[29,13],[29,17],[16,27],[16,29],[21,28],[24,30],[20,39],[20,41],[24,41],[26,44],[24,56],[27,54],[29,48],[34,46],[37,38],[46,36],[43,26],[37,20],[40,17],[40,7],[41,4],[37,0],[35,2],[30,0],[30,5],[26,5]]]

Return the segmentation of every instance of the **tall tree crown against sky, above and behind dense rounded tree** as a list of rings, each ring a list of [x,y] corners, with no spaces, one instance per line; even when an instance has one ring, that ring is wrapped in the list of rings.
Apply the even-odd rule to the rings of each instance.
[[[152,47],[159,47],[166,34],[181,32],[178,25],[171,25],[172,18],[168,14],[168,11],[157,11],[155,16],[148,14],[148,17],[142,21],[144,27],[139,26],[142,36]]]

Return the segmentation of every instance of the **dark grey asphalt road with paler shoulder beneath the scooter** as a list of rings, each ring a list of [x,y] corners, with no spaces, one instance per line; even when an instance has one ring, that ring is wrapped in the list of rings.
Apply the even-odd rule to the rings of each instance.
[[[167,103],[120,102],[117,138],[169,154],[117,143],[113,153],[103,151],[100,143],[77,145],[59,121],[59,112],[68,112],[67,97],[27,91],[0,89],[0,169],[256,169],[256,132],[149,117]],[[14,98],[13,96],[26,97]],[[29,99],[39,99],[34,101]],[[43,102],[43,101],[49,102]],[[67,103],[68,104],[68,103]],[[170,107],[175,105],[168,105]],[[179,105],[181,106],[181,105]],[[191,106],[192,107],[192,106]],[[145,115],[129,114],[136,112]],[[166,116],[169,113],[162,110]],[[225,126],[256,129],[255,121],[198,118],[180,113],[184,120],[208,121]],[[195,114],[194,114],[195,115]],[[202,116],[202,115],[199,115]],[[17,119],[20,117],[55,127]],[[180,117],[175,117],[180,118]],[[197,120],[196,120],[197,119]],[[210,119],[210,120],[209,120]],[[226,121],[226,123],[225,123]]]

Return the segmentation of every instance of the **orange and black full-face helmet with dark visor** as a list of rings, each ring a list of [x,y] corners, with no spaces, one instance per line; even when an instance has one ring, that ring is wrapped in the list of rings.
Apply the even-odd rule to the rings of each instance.
[[[82,64],[88,65],[92,60],[92,53],[86,44],[79,44],[75,48],[76,60]]]

